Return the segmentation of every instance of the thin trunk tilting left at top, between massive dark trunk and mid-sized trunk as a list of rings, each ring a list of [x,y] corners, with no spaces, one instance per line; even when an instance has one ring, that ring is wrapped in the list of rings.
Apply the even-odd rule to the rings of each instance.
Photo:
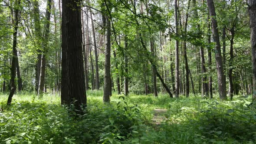
[[[96,37],[95,37],[95,29],[94,29],[94,21],[92,19],[92,11],[90,11],[91,22],[92,22],[92,36],[93,36],[93,45],[94,45],[94,54],[95,54],[95,70],[96,70],[96,89],[99,90],[99,76],[98,76],[98,52],[96,45]]]

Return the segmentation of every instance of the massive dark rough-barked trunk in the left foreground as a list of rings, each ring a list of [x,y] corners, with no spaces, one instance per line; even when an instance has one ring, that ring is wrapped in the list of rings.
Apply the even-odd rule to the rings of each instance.
[[[67,83],[62,81],[62,101],[65,104],[74,102],[77,110],[82,110],[81,105],[86,106],[85,75],[82,56],[82,23],[80,0],[62,0],[62,50],[66,49],[66,63],[62,60],[62,69],[67,72]],[[63,57],[62,57],[63,59]],[[65,69],[66,68],[66,69]],[[63,72],[63,71],[62,71]],[[65,74],[65,73],[64,73]],[[64,94],[63,92],[67,92]],[[68,100],[68,101],[67,101]],[[78,112],[80,113],[80,112]]]

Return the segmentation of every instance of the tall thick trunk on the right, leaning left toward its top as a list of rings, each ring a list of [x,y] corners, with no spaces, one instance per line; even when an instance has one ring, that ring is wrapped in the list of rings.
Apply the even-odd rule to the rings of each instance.
[[[210,12],[211,23],[212,23],[212,33],[213,33],[213,40],[215,44],[215,61],[216,61],[216,68],[217,68],[217,76],[218,76],[218,87],[219,87],[219,95],[220,99],[226,99],[226,81],[224,79],[224,72],[223,72],[223,64],[222,64],[222,57],[221,57],[221,50],[220,50],[220,36],[217,26],[216,20],[216,13],[213,0],[207,0],[207,5]]]

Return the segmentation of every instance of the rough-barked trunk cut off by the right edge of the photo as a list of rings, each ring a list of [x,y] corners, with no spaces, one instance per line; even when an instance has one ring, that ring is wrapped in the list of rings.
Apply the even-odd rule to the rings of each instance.
[[[251,48],[253,63],[253,101],[256,101],[256,0],[248,2],[250,29],[251,29]]]

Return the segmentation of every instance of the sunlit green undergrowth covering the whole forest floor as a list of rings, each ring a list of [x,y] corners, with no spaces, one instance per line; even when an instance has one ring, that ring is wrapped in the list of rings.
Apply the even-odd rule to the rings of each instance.
[[[103,104],[101,91],[88,91],[85,115],[60,106],[58,95],[43,99],[15,95],[10,107],[0,95],[1,144],[253,144],[256,109],[251,98],[234,101],[169,98],[160,95],[113,95]],[[161,124],[152,121],[155,108],[165,108]]]

